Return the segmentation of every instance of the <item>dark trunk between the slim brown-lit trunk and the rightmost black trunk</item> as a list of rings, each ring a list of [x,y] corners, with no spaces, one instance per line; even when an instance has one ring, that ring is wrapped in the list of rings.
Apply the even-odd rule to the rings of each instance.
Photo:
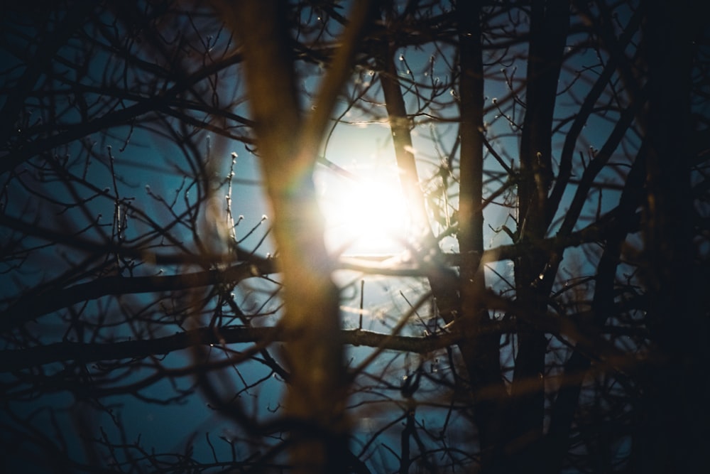
[[[535,241],[547,231],[547,193],[552,183],[552,116],[557,80],[569,26],[568,0],[533,0],[526,109],[520,137],[520,213],[518,238]],[[550,256],[531,252],[515,262],[515,286],[520,305],[545,312],[554,275],[543,276]],[[545,408],[545,352],[547,338],[527,323],[518,328],[518,355],[513,374],[514,408],[508,420],[509,449],[521,470],[538,465],[535,449],[542,437]]]

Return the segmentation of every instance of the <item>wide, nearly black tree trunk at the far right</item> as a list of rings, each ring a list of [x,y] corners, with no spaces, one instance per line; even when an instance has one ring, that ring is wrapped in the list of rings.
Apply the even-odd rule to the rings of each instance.
[[[648,426],[639,438],[649,473],[689,472],[706,464],[699,451],[708,440],[708,382],[699,374],[707,369],[709,334],[697,303],[706,288],[694,262],[690,185],[692,35],[699,26],[693,5],[649,1],[643,32],[649,74],[645,279],[657,365],[648,367]]]

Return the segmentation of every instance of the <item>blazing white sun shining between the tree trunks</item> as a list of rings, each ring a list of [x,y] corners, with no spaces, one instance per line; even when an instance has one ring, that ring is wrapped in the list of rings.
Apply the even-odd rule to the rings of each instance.
[[[389,168],[327,173],[320,182],[325,240],[334,254],[393,254],[405,249],[410,218],[399,178]]]

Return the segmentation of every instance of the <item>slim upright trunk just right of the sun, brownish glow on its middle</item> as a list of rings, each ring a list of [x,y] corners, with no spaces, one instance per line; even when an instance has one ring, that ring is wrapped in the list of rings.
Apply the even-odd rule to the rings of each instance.
[[[507,399],[501,379],[500,336],[486,331],[491,322],[481,303],[486,289],[481,255],[484,251],[483,139],[484,67],[481,45],[481,6],[478,2],[457,4],[459,18],[459,270],[461,328],[469,345],[466,367],[474,397],[474,419],[481,446],[481,472],[502,472],[501,414]]]

